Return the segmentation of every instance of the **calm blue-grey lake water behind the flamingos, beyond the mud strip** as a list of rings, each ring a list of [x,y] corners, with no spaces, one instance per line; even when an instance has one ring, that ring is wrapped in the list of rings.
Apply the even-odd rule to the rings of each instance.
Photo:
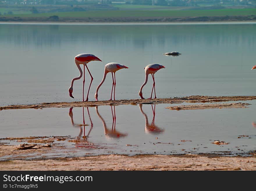
[[[0,24],[0,105],[81,101],[82,78],[74,83],[75,99],[68,94],[79,53],[103,61],[88,64],[89,100],[109,62],[129,67],[116,73],[116,99],[139,98],[150,63],[166,66],[155,75],[157,97],[255,95],[255,34],[256,24]],[[163,55],[169,51],[182,55]],[[86,72],[85,92],[89,82]],[[111,84],[108,74],[100,100],[110,98]],[[151,88],[152,79],[143,96]]]

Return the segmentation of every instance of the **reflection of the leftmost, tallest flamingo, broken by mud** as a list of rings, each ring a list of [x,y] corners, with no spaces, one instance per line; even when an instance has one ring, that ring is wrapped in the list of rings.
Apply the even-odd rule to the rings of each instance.
[[[79,127],[80,128],[79,135],[77,136],[77,139],[74,140],[74,142],[76,144],[76,147],[96,148],[96,146],[93,145],[93,143],[88,142],[88,136],[90,135],[90,132],[92,131],[92,128],[93,128],[93,122],[92,122],[92,119],[90,117],[90,113],[89,113],[88,107],[87,107],[87,111],[88,111],[88,116],[89,116],[89,119],[90,119],[90,122],[91,122],[91,125],[90,125],[91,127],[90,127],[90,130],[88,131],[87,135],[85,135],[85,126],[89,126],[89,125],[85,124],[85,120],[84,120],[84,107],[83,107],[83,124],[74,123],[72,109],[73,109],[73,107],[71,107],[69,109],[69,114],[68,114],[70,119],[71,119],[71,123],[72,123],[72,125],[74,127]],[[83,128],[82,128],[82,126],[83,126]],[[83,136],[82,136],[82,134],[83,134]]]

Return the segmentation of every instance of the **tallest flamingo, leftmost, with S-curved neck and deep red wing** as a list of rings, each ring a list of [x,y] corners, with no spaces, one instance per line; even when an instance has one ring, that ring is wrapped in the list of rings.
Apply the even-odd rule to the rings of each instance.
[[[71,86],[68,89],[70,97],[74,98],[72,96],[74,81],[75,80],[79,80],[82,77],[82,75],[83,75],[83,92],[84,92],[84,82],[85,82],[85,79],[84,79],[84,74],[83,73],[84,73],[84,69],[86,67],[88,72],[89,72],[89,74],[90,74],[90,76],[91,76],[91,83],[90,83],[90,86],[88,88],[88,93],[87,93],[87,97],[86,97],[86,100],[85,100],[85,101],[88,101],[88,95],[89,95],[90,87],[91,87],[91,84],[93,82],[93,76],[92,76],[92,74],[90,73],[90,71],[89,71],[89,69],[87,67],[87,63],[90,62],[90,61],[101,61],[102,62],[102,60],[100,60],[98,57],[94,56],[93,54],[78,54],[75,57],[75,63],[77,65],[78,69],[79,69],[80,76],[77,77],[77,78],[73,78],[72,79]],[[82,72],[82,69],[80,67],[80,64],[83,64],[83,72]],[[84,101],[84,95],[83,95],[83,101]]]

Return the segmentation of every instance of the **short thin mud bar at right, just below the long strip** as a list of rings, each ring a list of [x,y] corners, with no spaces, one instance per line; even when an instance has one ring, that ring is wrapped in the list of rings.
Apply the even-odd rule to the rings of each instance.
[[[246,106],[251,105],[249,103],[216,103],[216,104],[201,104],[201,105],[189,105],[189,106],[173,106],[166,107],[170,110],[189,110],[189,109],[215,109],[215,108],[248,108]]]

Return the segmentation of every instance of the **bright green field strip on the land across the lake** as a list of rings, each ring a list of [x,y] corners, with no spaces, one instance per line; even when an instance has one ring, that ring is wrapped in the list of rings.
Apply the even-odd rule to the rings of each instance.
[[[81,12],[59,12],[20,14],[16,17],[204,17],[204,16],[239,16],[256,15],[256,8],[251,9],[217,9],[217,10],[102,10]],[[5,15],[13,16],[13,15]]]

